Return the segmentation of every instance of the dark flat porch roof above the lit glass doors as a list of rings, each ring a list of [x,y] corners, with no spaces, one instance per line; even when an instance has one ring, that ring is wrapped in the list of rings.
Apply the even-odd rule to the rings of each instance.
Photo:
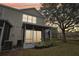
[[[50,29],[51,27],[45,25],[32,24],[32,23],[23,23],[23,28],[30,30],[45,30],[45,29]]]

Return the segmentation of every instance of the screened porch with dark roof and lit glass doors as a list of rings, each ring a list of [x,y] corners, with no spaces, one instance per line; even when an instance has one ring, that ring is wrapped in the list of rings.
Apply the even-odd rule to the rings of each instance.
[[[32,23],[23,23],[23,44],[24,46],[41,42],[42,40],[51,39],[51,27]]]

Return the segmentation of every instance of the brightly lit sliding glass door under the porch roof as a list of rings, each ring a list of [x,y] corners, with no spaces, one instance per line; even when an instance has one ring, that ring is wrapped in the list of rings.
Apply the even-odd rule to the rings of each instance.
[[[24,43],[38,43],[41,41],[41,31],[26,30]]]

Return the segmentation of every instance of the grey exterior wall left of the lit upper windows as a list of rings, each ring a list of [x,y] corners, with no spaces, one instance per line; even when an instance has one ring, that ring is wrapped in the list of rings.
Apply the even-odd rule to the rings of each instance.
[[[17,40],[22,40],[22,13],[5,7],[1,8],[1,19],[7,20],[13,26],[10,31],[9,41],[16,45]]]

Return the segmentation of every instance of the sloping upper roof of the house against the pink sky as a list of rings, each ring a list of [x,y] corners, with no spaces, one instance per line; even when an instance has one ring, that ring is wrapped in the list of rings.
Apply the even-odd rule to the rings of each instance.
[[[5,7],[5,8],[9,8],[9,9],[12,9],[12,10],[15,10],[15,11],[19,11],[19,12],[23,12],[23,13],[26,13],[28,15],[32,15],[32,16],[37,16],[37,17],[42,17],[42,18],[45,18],[38,10],[36,10],[35,8],[25,8],[25,9],[16,9],[16,8],[13,8],[13,7],[10,7],[10,6],[6,6],[6,5],[3,5],[3,4],[0,4],[0,6],[2,7]],[[34,12],[34,13],[33,13]],[[33,14],[32,14],[33,13]]]

